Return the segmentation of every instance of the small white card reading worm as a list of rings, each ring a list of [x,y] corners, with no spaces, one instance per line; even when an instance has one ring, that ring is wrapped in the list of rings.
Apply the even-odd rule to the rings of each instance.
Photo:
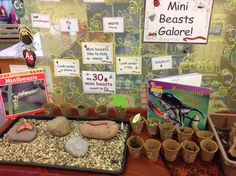
[[[122,33],[124,32],[123,17],[104,17],[103,32]]]

